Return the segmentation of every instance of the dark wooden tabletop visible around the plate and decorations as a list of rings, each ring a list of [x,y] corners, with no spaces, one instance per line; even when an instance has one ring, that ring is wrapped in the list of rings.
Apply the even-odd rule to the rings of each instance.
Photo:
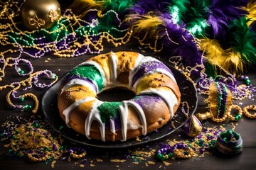
[[[119,51],[119,50],[131,50],[131,47],[118,47],[118,48],[106,48],[105,52],[110,50]],[[136,48],[132,50],[142,52]],[[142,54],[144,54],[142,52]],[[149,53],[150,54],[150,53]],[[153,54],[151,54],[153,55]],[[34,67],[34,72],[42,69],[49,69],[62,77],[63,74],[72,69],[76,64],[86,60],[88,57],[93,55],[83,55],[75,58],[64,58],[64,57],[54,57],[54,56],[44,56],[39,59],[33,59],[26,57],[30,60]],[[48,60],[50,58],[50,60]],[[46,62],[45,60],[48,60]],[[247,74],[253,85],[256,85],[256,74],[250,72]],[[10,84],[15,79],[16,74],[14,70],[7,69],[6,77],[0,82],[0,85]],[[33,113],[28,112],[19,112],[10,108],[6,103],[6,94],[10,89],[4,89],[0,91],[0,125],[3,125],[6,120],[14,120],[16,116],[21,116],[22,118],[29,118]],[[33,94],[36,94],[39,101],[41,101],[45,90],[32,89]],[[245,99],[244,101],[234,101],[234,103],[239,103],[240,106],[247,106],[249,104],[254,104],[255,101],[252,99]],[[41,106],[40,106],[41,107]],[[203,97],[199,95],[199,102],[197,112],[206,111],[206,103],[203,102]],[[39,108],[37,115],[42,115],[41,108]],[[166,140],[186,140],[186,136],[183,135],[181,129],[176,130],[173,134],[157,142],[151,142],[143,146],[124,148],[124,149],[97,149],[97,148],[87,148],[87,155],[85,156],[86,162],[85,166],[80,167],[81,159],[75,160],[72,159],[70,162],[67,160],[57,159],[55,162],[54,169],[256,169],[256,120],[251,120],[242,116],[242,119],[238,122],[235,122],[235,132],[240,133],[243,140],[243,149],[242,153],[236,155],[235,157],[223,157],[219,154],[205,154],[204,157],[191,158],[191,159],[168,159],[166,162],[169,164],[164,164],[164,162],[159,162],[155,157],[146,157],[146,160],[142,162],[134,163],[134,159],[125,157],[125,154],[129,149],[142,149],[145,151],[150,151],[151,149],[159,149],[159,142],[166,143]],[[220,126],[224,127],[231,126],[230,122],[226,120],[224,123],[213,123],[211,120],[205,121],[203,126],[213,127]],[[46,164],[46,162],[31,163],[26,159],[9,157],[6,153],[9,151],[9,148],[0,144],[0,169],[52,169],[50,166],[51,162]],[[125,162],[112,162],[113,159],[124,159]],[[155,164],[148,164],[148,162],[154,162]]]

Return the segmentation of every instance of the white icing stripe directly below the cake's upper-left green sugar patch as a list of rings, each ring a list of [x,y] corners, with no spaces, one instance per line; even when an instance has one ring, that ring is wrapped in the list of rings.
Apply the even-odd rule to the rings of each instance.
[[[95,85],[95,82],[92,81],[92,84]],[[96,87],[96,91],[95,91],[95,87],[92,86],[92,84],[90,84],[88,81],[83,80],[83,79],[72,79],[70,81],[68,81],[67,84],[65,84],[65,86],[63,86],[63,88],[61,89],[60,95],[68,88],[72,87],[72,86],[77,86],[77,85],[82,85],[82,86],[86,86],[89,89],[92,89],[94,94],[96,95],[97,92],[99,91],[97,88],[97,84],[95,85]]]

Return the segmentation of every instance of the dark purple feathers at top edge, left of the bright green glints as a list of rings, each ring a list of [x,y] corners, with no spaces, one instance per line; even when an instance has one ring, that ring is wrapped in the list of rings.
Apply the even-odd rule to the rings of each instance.
[[[158,1],[158,0],[139,0],[137,3],[130,8],[130,12],[138,13],[140,15],[146,14],[149,11],[164,11],[167,10],[169,1]]]

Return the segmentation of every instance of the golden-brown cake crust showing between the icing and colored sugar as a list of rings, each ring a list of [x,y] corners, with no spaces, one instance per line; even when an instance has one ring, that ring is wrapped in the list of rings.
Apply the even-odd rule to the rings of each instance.
[[[137,60],[139,54],[136,52],[117,52],[116,55],[118,58],[117,73],[121,75],[120,77],[124,77],[123,79],[126,79],[126,81],[121,81],[119,83],[124,84],[124,82],[127,82],[127,76],[129,76],[129,72],[131,72],[131,69],[134,67],[135,60]],[[104,65],[105,67],[105,72],[109,72],[106,74],[111,74],[109,71],[110,68],[106,68],[111,67],[110,53],[92,57],[90,60],[98,62],[100,61],[99,57],[107,57],[108,61],[104,62],[102,65]],[[127,72],[128,75],[124,74],[124,72]],[[161,81],[154,79],[159,76],[161,76],[162,78]],[[142,79],[139,80],[139,85],[137,86],[137,89],[140,90],[132,90],[136,91],[137,94],[139,94],[139,91],[146,91],[150,89],[172,91],[172,93],[174,93],[174,96],[176,96],[176,104],[173,106],[174,113],[176,113],[178,106],[181,103],[181,93],[178,89],[178,85],[176,84],[176,82],[174,82],[171,78],[167,77],[166,75],[163,76],[162,74],[155,74],[155,77],[152,77],[154,77],[154,74],[151,74],[148,77],[142,77]],[[150,81],[150,83],[147,83],[148,81]],[[145,84],[143,84],[143,82]],[[65,89],[65,91],[62,91],[63,86],[65,86],[64,83],[61,84],[58,93],[58,108],[60,111],[60,116],[64,121],[67,121],[67,118],[66,115],[63,114],[63,111],[70,107],[75,101],[78,101],[85,97],[95,98],[91,101],[81,103],[79,106],[73,108],[73,110],[69,113],[68,125],[70,126],[70,128],[73,128],[80,134],[85,135],[85,121],[87,119],[88,114],[92,110],[94,102],[98,101],[97,94],[93,93],[92,89],[88,88],[87,86],[69,86],[67,89]],[[125,86],[127,86],[127,84]],[[160,128],[161,126],[165,125],[171,118],[169,107],[166,104],[166,102],[161,98],[158,99],[157,102],[145,105],[143,107],[143,112],[146,118],[146,132],[151,132],[153,130]],[[137,109],[135,109],[134,106],[128,106],[127,120],[129,123],[132,123],[132,127],[137,127],[127,128],[127,139],[137,137],[143,134],[142,120]],[[90,126],[90,138],[102,140],[102,133],[100,132],[100,123],[97,120],[93,120],[92,125]],[[109,127],[105,127],[105,140],[124,140],[124,137],[122,135],[122,129],[117,129],[113,133],[111,132]]]

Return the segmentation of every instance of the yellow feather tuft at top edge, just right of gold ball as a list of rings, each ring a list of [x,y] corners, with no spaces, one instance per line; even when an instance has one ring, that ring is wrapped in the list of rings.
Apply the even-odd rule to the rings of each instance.
[[[89,9],[102,10],[104,8],[105,0],[94,1],[94,0],[74,0],[70,8],[72,9],[75,15],[82,18],[86,15]]]

